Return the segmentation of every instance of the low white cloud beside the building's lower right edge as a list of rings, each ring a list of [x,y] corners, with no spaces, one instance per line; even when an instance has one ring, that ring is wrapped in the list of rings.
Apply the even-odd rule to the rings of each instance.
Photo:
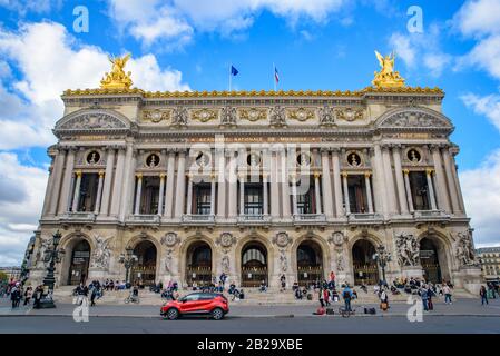
[[[460,174],[467,212],[472,217],[478,246],[498,243],[500,231],[500,150],[479,168]],[[484,187],[488,186],[488,191]]]

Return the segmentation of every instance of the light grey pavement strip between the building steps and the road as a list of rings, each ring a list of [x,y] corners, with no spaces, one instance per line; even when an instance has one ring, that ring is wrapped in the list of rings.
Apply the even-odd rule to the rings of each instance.
[[[339,307],[343,303],[335,303],[331,307],[335,312],[333,317],[339,317]],[[401,317],[406,316],[411,305],[405,303],[393,303],[388,312],[379,309],[378,305],[367,304],[360,305],[353,303],[357,307],[354,317]],[[374,307],[376,315],[364,315],[363,307]],[[1,317],[6,316],[72,316],[75,305],[57,303],[55,309],[32,309],[21,305],[19,309],[12,310],[10,300],[0,299],[0,323]],[[158,318],[158,306],[150,305],[97,305],[90,308],[90,317],[144,317]],[[263,318],[263,317],[332,317],[332,316],[314,316],[313,312],[316,305],[283,305],[283,306],[249,306],[238,305],[236,301],[229,304],[229,314],[232,318]],[[441,301],[434,303],[434,310],[424,313],[427,316],[480,316],[480,317],[500,317],[500,299],[492,299],[488,306],[481,306],[479,299],[458,299],[453,305],[445,305]]]

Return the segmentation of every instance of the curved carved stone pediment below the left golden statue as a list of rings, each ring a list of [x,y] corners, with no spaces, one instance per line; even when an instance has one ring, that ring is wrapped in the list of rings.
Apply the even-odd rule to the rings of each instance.
[[[128,129],[129,120],[119,112],[104,109],[84,109],[72,112],[56,123],[56,131]]]

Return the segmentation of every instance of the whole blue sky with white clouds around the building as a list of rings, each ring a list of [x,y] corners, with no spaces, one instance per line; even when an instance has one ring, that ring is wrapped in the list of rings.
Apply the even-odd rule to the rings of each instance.
[[[423,33],[406,28],[411,6]],[[373,51],[395,50],[408,85],[444,89],[474,239],[500,243],[500,0],[0,0],[0,265],[20,260],[37,226],[59,95],[97,87],[106,55],[124,52],[148,90],[227,89],[229,62],[233,89],[272,89],[275,62],[281,89],[356,90],[378,69]],[[18,199],[6,194],[16,184]]]

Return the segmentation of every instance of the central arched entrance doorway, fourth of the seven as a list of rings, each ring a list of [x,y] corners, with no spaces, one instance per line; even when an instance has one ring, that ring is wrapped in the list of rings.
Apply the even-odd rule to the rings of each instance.
[[[262,281],[268,284],[267,249],[251,241],[242,248],[242,287],[258,287]]]

